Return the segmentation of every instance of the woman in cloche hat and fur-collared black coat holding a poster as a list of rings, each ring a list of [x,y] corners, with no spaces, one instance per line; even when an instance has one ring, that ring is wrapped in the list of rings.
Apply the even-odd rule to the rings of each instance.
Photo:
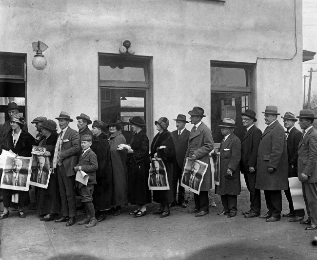
[[[154,137],[151,145],[151,158],[161,158],[167,172],[167,180],[170,186],[169,190],[153,190],[153,200],[160,203],[160,208],[153,214],[160,215],[160,218],[165,218],[170,215],[168,204],[174,201],[173,190],[173,174],[174,165],[176,163],[175,146],[173,137],[170,131],[167,130],[169,121],[166,117],[161,117],[155,121],[158,134]]]

